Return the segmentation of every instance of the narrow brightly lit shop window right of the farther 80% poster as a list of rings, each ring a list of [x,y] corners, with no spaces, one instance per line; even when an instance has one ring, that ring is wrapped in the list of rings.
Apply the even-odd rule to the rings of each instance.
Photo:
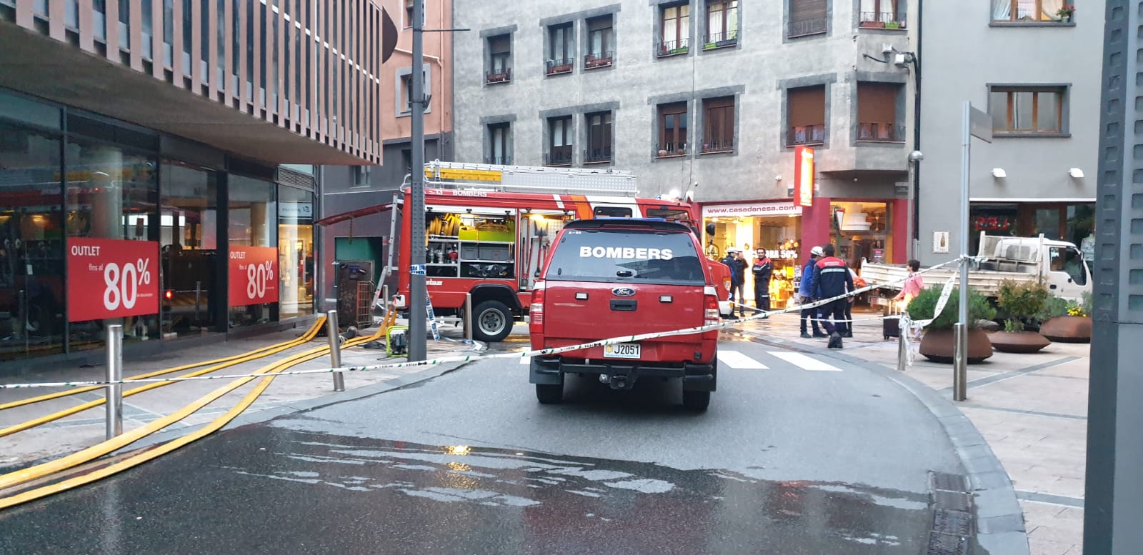
[[[313,313],[313,192],[278,186],[280,317]]]

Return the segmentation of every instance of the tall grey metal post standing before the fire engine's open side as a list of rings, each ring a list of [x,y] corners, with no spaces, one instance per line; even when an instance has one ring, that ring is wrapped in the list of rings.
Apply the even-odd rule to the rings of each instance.
[[[413,104],[413,152],[410,162],[411,199],[408,217],[411,233],[409,234],[410,265],[425,264],[425,95],[424,95],[424,0],[413,0],[413,69],[409,79],[413,81],[410,103]],[[422,306],[429,300],[425,290],[425,275],[409,275],[409,362],[425,360],[426,317]]]

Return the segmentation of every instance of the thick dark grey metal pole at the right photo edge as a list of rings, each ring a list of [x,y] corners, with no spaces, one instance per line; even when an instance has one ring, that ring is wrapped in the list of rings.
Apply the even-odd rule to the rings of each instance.
[[[1100,90],[1084,553],[1143,545],[1143,119],[1138,0],[1108,0]],[[1093,188],[1095,188],[1093,187]]]

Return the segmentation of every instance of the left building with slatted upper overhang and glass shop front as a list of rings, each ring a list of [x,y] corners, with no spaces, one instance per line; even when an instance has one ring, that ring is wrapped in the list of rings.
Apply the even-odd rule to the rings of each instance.
[[[0,0],[0,368],[312,314],[306,168],[381,161],[381,29],[369,0]]]

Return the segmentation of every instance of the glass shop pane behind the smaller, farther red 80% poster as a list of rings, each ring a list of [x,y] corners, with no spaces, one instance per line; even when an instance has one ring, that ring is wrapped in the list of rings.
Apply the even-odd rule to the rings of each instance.
[[[278,215],[274,184],[253,177],[231,175],[229,188],[226,236],[230,247],[278,247],[278,234],[273,233],[273,220]],[[232,299],[231,328],[278,320],[278,303],[246,306],[233,306],[234,304]]]

